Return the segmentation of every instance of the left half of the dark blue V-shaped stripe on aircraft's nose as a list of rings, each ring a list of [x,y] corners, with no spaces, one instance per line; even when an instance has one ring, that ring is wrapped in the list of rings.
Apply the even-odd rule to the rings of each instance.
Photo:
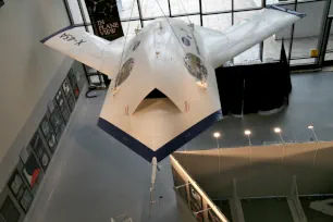
[[[145,158],[148,162],[151,162],[152,158],[155,157],[155,151],[149,149],[146,145],[141,144],[139,140],[135,139],[102,118],[99,118],[97,125],[109,135],[113,136],[116,140],[135,151],[137,155]]]

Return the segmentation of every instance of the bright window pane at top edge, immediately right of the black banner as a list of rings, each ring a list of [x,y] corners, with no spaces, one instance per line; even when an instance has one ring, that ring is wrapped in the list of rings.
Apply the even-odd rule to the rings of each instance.
[[[121,20],[139,17],[137,0],[116,0],[116,4]]]

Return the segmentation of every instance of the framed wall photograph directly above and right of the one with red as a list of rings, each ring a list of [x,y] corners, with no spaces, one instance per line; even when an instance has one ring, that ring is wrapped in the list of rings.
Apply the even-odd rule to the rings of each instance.
[[[40,137],[38,131],[33,136],[30,145],[32,145],[33,149],[35,150],[35,153],[36,153],[36,156],[39,160],[39,163],[41,164],[44,170],[46,170],[49,165],[50,157],[47,153],[47,150],[45,148],[45,145],[41,140],[41,137]]]

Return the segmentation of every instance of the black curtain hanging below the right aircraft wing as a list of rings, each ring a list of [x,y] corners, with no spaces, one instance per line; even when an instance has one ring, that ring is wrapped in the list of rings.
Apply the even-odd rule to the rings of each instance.
[[[283,42],[279,62],[219,67],[215,74],[223,115],[281,108],[292,90]]]

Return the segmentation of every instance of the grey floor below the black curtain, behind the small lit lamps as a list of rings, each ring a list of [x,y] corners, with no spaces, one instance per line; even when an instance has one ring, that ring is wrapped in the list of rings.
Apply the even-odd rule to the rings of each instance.
[[[284,140],[309,141],[312,136],[307,125],[312,123],[319,140],[333,138],[333,73],[294,74],[289,106],[272,115],[249,114],[244,118],[226,116],[186,145],[187,150],[217,147],[212,134],[221,133],[220,147],[248,145],[245,130],[251,130],[252,145],[279,143],[273,128],[282,128]],[[185,150],[185,146],[182,148]]]

